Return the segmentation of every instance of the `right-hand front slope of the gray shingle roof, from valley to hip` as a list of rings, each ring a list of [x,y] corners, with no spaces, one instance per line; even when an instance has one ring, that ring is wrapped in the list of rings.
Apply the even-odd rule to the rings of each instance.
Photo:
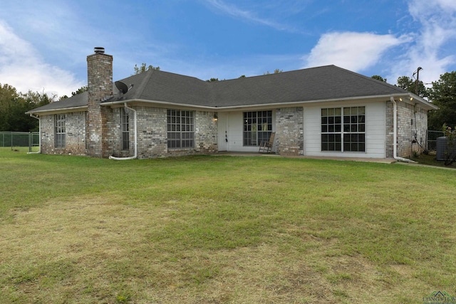
[[[219,106],[296,103],[408,93],[349,70],[327,65],[214,83]]]

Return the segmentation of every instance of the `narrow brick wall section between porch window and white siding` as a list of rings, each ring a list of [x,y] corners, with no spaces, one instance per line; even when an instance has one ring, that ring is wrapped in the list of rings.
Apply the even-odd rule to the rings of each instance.
[[[276,110],[276,152],[281,155],[304,155],[302,107]]]

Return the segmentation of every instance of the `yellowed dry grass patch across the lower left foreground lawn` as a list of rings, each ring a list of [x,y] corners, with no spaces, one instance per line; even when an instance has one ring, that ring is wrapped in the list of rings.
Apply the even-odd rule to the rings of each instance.
[[[0,226],[1,272],[9,277],[2,292],[18,303],[30,295],[35,303],[374,303],[402,292],[385,276],[413,280],[406,266],[379,271],[341,254],[336,239],[291,225],[277,239],[298,236],[305,249],[262,242],[170,251],[149,235],[178,221],[176,201],[146,209],[121,203],[83,196],[12,211],[13,223]]]

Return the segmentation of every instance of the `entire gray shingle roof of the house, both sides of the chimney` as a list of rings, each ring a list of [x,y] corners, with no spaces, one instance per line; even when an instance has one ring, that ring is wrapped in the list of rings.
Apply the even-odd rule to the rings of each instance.
[[[121,81],[128,87],[133,84],[133,88],[123,96],[115,90],[113,98],[105,103],[143,100],[224,108],[409,94],[395,85],[336,65],[218,82],[162,70],[148,70]],[[87,103],[88,93],[82,93],[29,112],[84,107]]]

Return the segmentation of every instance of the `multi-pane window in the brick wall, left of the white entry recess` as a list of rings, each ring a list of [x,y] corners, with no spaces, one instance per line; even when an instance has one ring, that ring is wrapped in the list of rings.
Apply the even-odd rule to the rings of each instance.
[[[168,148],[195,147],[195,112],[167,110]]]

